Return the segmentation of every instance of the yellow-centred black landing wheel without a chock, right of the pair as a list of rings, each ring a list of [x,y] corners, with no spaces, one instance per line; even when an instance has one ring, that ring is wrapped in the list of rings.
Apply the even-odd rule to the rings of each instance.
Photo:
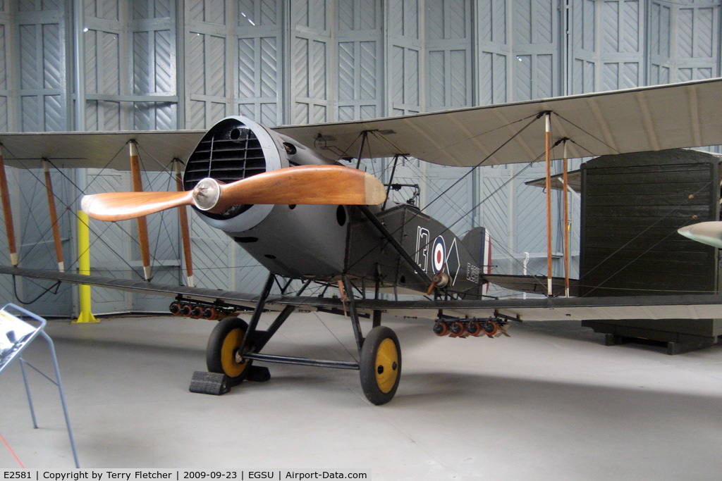
[[[391,401],[401,379],[401,347],[396,333],[386,326],[370,330],[361,348],[359,367],[366,399],[377,406]]]

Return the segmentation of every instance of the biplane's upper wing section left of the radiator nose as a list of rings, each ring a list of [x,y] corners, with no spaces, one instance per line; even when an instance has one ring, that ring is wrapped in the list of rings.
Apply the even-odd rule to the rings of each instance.
[[[175,158],[186,160],[205,131],[0,133],[6,164],[33,169],[41,159],[57,167],[109,167],[129,170],[126,144],[135,140],[145,170],[164,170]],[[120,155],[119,155],[120,154]]]

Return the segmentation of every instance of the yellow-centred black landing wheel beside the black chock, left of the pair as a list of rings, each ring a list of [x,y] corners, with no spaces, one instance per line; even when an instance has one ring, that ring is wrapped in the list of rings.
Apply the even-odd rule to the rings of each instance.
[[[238,384],[243,381],[251,361],[240,357],[238,350],[248,324],[238,317],[226,317],[213,328],[206,348],[206,366],[210,372],[225,374]]]

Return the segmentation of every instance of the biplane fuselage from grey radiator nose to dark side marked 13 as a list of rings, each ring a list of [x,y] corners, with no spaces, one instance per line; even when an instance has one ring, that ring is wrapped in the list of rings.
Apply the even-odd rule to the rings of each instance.
[[[206,133],[188,159],[183,182],[190,190],[204,177],[228,183],[294,165],[334,163],[252,120],[230,117]],[[233,206],[221,214],[197,212],[261,265],[285,277],[334,281],[348,275],[367,288],[416,292],[426,292],[429,278],[440,272],[448,275],[453,291],[477,291],[483,282],[482,241],[474,237],[462,242],[408,204],[387,200],[369,206],[366,213],[356,206],[261,204]],[[386,236],[396,239],[415,266],[367,213],[381,221]]]

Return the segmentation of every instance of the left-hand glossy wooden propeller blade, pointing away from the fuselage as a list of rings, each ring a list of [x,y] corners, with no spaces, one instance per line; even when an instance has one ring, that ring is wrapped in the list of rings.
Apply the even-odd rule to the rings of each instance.
[[[86,195],[81,203],[88,216],[99,221],[125,221],[165,209],[193,204],[193,191],[109,192]]]

